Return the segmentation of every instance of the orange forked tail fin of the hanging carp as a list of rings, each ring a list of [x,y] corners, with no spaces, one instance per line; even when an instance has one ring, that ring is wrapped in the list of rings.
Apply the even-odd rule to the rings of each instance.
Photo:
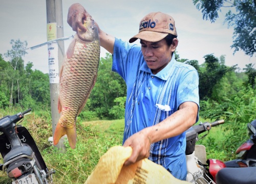
[[[75,149],[76,147],[76,127],[72,127],[72,128],[67,128],[67,127],[63,127],[60,125],[60,123],[58,122],[54,135],[53,135],[53,144],[56,145],[58,144],[60,138],[63,135],[66,135],[68,137],[69,140],[69,145],[72,149]]]

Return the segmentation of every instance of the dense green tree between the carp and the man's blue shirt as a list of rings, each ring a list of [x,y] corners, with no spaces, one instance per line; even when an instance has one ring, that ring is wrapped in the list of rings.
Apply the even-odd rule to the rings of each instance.
[[[99,118],[113,117],[114,109],[112,107],[115,105],[120,107],[121,105],[115,99],[125,96],[125,82],[117,73],[112,72],[112,55],[106,53],[105,58],[100,58],[97,81],[86,108],[90,111],[96,111]]]

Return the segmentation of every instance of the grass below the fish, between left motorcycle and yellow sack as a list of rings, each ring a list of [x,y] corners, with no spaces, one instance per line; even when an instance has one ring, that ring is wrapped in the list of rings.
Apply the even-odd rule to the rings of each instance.
[[[100,156],[110,147],[122,144],[123,126],[124,120],[78,123],[75,149],[66,142],[66,152],[60,153],[55,147],[44,150],[49,168],[56,170],[54,183],[84,183]]]

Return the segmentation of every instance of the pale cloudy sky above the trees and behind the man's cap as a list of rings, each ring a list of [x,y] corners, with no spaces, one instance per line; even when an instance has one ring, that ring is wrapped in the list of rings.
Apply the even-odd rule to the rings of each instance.
[[[60,1],[60,0],[55,0]],[[60,1],[61,2],[61,1]],[[106,33],[129,41],[139,30],[140,20],[150,12],[167,13],[175,19],[179,44],[177,53],[180,58],[204,62],[204,56],[213,54],[220,58],[225,55],[225,64],[245,68],[246,64],[256,66],[256,57],[245,55],[243,51],[233,54],[231,49],[233,29],[224,24],[225,12],[219,13],[219,18],[211,23],[203,20],[202,13],[197,10],[192,0],[87,0],[62,1],[62,16],[64,37],[75,35],[67,24],[68,9],[73,3],[80,3],[94,18],[99,27]],[[11,50],[11,39],[27,41],[28,48],[47,41],[47,9],[46,1],[33,0],[1,0],[0,6],[0,54]],[[71,42],[65,40],[65,52]],[[139,42],[136,41],[137,44]],[[23,57],[25,65],[33,63],[33,70],[49,73],[48,46],[27,50]],[[107,51],[101,47],[100,56],[105,57]],[[8,60],[4,57],[5,60]]]

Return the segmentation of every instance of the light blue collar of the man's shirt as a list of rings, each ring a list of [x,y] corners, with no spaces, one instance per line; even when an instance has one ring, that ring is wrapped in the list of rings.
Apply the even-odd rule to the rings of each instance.
[[[158,72],[156,75],[154,75],[154,74],[152,74],[151,69],[147,67],[146,61],[144,60],[144,62],[140,66],[139,70],[146,72],[146,73],[150,73],[152,76],[158,77],[162,80],[167,80],[168,77],[172,74],[171,68],[175,65],[176,62],[177,61],[175,59],[175,56],[173,55],[170,62],[160,72]]]

